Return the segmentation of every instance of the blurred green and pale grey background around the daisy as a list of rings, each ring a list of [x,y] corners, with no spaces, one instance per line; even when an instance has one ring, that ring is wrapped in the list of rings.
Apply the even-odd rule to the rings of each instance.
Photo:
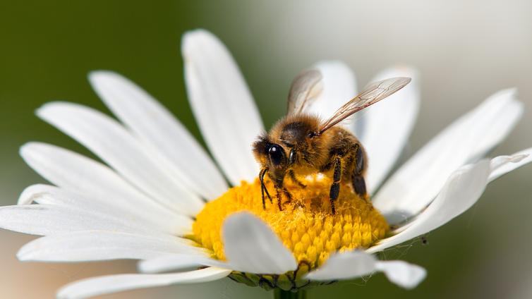
[[[30,140],[87,150],[34,116],[51,100],[107,111],[87,72],[117,71],[164,103],[198,137],[186,100],[183,32],[206,28],[234,54],[266,126],[284,114],[291,78],[320,59],[341,59],[358,85],[394,63],[421,71],[421,114],[406,152],[504,87],[519,87],[524,118],[492,154],[530,147],[532,2],[514,1],[1,1],[0,204],[42,182],[18,156]],[[382,274],[316,288],[309,298],[532,298],[532,166],[490,184],[480,202],[428,236],[387,252],[420,264],[413,291]],[[133,262],[20,263],[33,237],[0,231],[0,297],[52,298],[59,286],[135,271]],[[270,298],[232,281],[131,291],[105,298]]]

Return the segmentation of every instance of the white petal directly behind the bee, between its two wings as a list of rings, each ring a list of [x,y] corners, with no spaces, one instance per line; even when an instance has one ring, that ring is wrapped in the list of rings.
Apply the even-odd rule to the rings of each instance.
[[[356,96],[353,71],[341,61],[320,61],[314,65],[322,73],[323,89],[306,112],[329,118],[343,104]],[[354,127],[349,126],[353,130]]]

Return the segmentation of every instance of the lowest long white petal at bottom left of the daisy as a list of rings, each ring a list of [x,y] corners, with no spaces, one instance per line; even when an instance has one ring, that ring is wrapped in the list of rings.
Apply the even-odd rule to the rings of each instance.
[[[136,288],[169,286],[176,283],[201,283],[222,279],[229,274],[231,274],[231,270],[205,268],[174,274],[120,274],[100,276],[83,279],[64,286],[57,293],[57,298],[78,299]]]

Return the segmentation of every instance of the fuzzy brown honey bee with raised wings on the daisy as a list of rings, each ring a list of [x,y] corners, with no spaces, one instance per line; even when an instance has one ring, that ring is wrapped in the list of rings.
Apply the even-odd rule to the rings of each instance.
[[[410,81],[410,78],[399,77],[371,83],[324,121],[306,112],[322,90],[322,75],[318,70],[300,73],[290,88],[288,114],[277,121],[269,133],[263,133],[253,143],[253,154],[261,166],[262,207],[266,207],[265,195],[272,202],[264,183],[266,174],[274,183],[279,209],[282,209],[282,194],[291,201],[291,194],[283,184],[286,176],[301,188],[306,185],[298,181],[296,175],[323,173],[332,178],[332,214],[336,212],[334,200],[338,198],[341,182],[351,183],[354,193],[365,198],[367,155],[355,135],[337,125],[357,111],[401,90]]]

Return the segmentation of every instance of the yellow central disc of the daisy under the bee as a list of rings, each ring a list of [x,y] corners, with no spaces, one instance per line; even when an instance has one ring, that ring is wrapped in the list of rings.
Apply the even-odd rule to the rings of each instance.
[[[306,181],[306,188],[287,181],[286,189],[291,202],[279,190],[282,211],[277,206],[276,190],[266,181],[273,202],[266,197],[262,207],[262,195],[258,179],[253,183],[242,182],[224,195],[207,203],[193,224],[193,235],[202,247],[212,250],[218,260],[225,260],[221,231],[226,216],[247,211],[272,228],[282,243],[294,253],[299,264],[319,267],[334,252],[368,248],[386,236],[389,226],[385,218],[370,201],[353,193],[350,185],[341,185],[338,199],[334,202],[336,214],[332,214],[329,202],[330,178]]]

